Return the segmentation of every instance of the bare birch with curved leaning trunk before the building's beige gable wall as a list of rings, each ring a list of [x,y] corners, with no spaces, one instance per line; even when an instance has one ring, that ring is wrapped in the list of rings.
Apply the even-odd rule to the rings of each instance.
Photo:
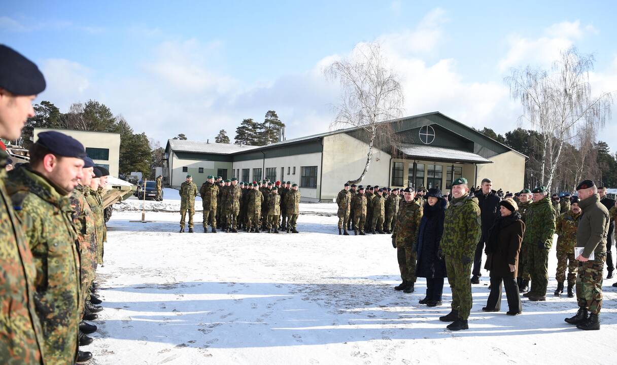
[[[368,136],[366,163],[357,179],[364,179],[373,160],[376,142],[394,142],[396,136],[390,123],[384,121],[402,115],[404,96],[399,76],[387,66],[381,45],[377,42],[360,43],[349,58],[342,59],[325,68],[329,80],[341,84],[341,101],[334,106],[336,117],[330,128],[361,127]]]

